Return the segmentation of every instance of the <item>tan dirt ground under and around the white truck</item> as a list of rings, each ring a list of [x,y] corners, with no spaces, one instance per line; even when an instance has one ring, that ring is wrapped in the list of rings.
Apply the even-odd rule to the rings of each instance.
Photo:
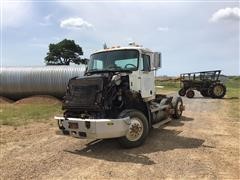
[[[180,121],[153,129],[146,143],[122,149],[56,134],[56,124],[1,126],[1,179],[239,179],[239,120],[228,99],[184,98]],[[88,144],[89,143],[89,144]]]

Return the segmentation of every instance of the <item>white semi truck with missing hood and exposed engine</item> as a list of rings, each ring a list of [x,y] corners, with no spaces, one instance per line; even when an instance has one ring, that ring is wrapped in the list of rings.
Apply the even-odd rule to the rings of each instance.
[[[63,116],[55,117],[63,135],[116,138],[125,148],[140,146],[150,130],[184,111],[181,97],[155,90],[161,53],[131,43],[90,56],[84,76],[69,80]]]

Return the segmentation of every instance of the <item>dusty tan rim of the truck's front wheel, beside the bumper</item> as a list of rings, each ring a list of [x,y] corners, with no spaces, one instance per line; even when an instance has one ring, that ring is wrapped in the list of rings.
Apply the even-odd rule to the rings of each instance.
[[[134,117],[130,119],[129,129],[126,138],[129,141],[137,141],[143,134],[143,123],[140,119]]]

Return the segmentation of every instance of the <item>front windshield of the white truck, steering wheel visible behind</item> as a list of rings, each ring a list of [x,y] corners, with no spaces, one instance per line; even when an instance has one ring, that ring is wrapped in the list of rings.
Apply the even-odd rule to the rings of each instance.
[[[138,68],[137,50],[114,50],[91,55],[88,72],[92,71],[134,71]]]

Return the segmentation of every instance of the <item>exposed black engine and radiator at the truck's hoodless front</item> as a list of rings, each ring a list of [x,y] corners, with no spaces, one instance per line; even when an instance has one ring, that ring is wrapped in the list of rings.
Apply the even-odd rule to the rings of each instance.
[[[128,73],[107,72],[69,81],[64,97],[65,117],[116,117],[122,109],[138,101],[138,93],[129,89]]]

